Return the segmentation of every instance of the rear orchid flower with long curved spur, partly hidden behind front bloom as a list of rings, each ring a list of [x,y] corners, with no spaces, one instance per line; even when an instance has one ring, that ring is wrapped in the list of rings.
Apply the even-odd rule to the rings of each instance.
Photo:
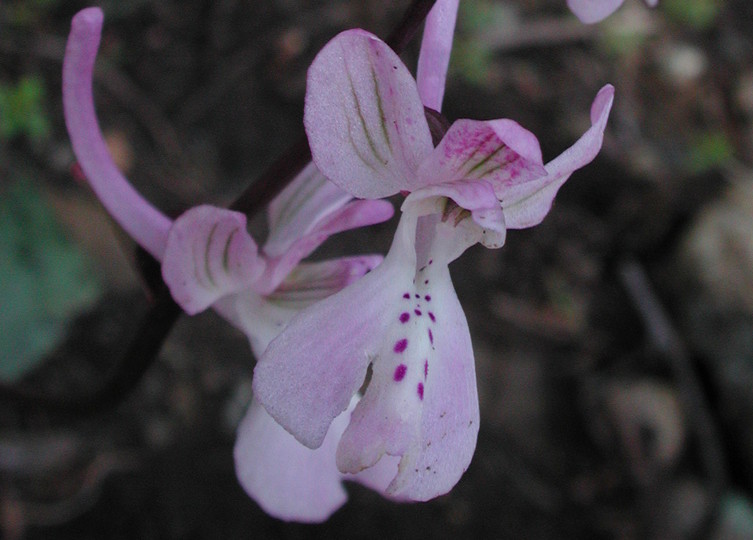
[[[389,219],[392,206],[353,201],[311,164],[269,205],[270,233],[261,248],[238,212],[202,205],[171,221],[120,173],[100,132],[92,71],[102,22],[97,8],[74,17],[63,68],[66,124],[81,168],[112,217],[162,263],[176,302],[189,314],[212,306],[247,335],[258,357],[300,309],[360,278],[382,258],[300,261],[332,234]],[[241,484],[272,515],[326,519],[346,497],[346,476],[337,471],[334,454],[349,417],[350,411],[343,413],[323,447],[310,450],[252,400],[235,449]],[[384,492],[391,476],[374,468],[347,478]]]

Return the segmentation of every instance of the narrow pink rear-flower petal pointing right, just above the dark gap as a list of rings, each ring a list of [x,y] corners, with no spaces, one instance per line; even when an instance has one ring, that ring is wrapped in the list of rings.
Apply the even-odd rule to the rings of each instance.
[[[339,188],[338,188],[339,189]],[[306,234],[287,247],[282,255],[267,259],[264,275],[254,283],[254,290],[271,294],[286,276],[305,257],[333,234],[381,223],[392,217],[395,210],[388,201],[353,201],[324,216]]]

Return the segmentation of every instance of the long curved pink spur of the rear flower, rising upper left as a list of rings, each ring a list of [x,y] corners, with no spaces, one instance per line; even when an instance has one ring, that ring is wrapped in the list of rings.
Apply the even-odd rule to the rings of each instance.
[[[102,138],[92,98],[92,71],[102,31],[102,10],[84,9],[73,17],[63,61],[63,110],[73,152],[97,197],[138,244],[158,260],[170,220],[128,183]]]

